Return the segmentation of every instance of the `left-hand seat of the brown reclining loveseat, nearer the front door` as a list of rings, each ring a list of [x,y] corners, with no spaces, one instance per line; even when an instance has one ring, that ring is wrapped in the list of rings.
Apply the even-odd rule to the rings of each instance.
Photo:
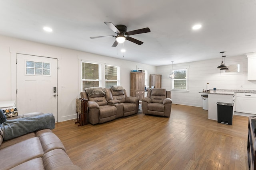
[[[81,98],[88,100],[88,121],[94,125],[116,119],[116,107],[108,105],[111,100],[109,91],[102,87],[86,88],[80,93]]]

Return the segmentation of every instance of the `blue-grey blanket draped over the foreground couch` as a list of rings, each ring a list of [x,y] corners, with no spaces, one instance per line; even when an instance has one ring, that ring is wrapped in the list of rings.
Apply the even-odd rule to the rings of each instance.
[[[4,141],[6,141],[41,129],[54,128],[54,115],[52,113],[46,113],[43,115],[33,115],[7,120],[1,124],[0,131],[3,133],[1,135],[3,136]]]

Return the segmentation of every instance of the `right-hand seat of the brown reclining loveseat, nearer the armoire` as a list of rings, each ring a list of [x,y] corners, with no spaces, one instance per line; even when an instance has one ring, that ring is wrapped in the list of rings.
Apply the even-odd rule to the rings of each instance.
[[[126,90],[122,86],[110,86],[110,94],[113,100],[108,101],[109,105],[116,106],[118,111],[116,118],[138,113],[139,98],[127,96]]]

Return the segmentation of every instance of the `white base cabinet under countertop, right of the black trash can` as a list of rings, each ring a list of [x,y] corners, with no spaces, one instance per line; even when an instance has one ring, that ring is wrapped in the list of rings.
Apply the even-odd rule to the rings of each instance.
[[[236,93],[236,111],[256,114],[256,94]]]

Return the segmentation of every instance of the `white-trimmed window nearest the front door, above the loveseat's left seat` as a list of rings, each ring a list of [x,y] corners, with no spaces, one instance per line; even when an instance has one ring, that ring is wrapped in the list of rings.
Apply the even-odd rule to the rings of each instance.
[[[100,72],[100,64],[82,61],[82,91],[85,88],[100,86]]]

